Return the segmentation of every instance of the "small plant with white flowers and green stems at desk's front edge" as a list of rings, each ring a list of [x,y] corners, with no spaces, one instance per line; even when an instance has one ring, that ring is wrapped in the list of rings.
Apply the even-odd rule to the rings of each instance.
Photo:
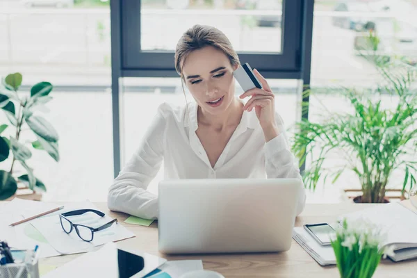
[[[342,278],[370,278],[382,257],[393,255],[394,245],[382,248],[384,234],[364,220],[347,222],[336,229],[332,247]]]

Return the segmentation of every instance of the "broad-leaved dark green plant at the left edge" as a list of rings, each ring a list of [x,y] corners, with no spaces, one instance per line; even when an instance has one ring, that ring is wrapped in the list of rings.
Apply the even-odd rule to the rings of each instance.
[[[15,195],[18,183],[30,190],[46,190],[44,183],[35,177],[33,168],[28,165],[32,156],[31,148],[44,150],[55,161],[59,161],[58,133],[37,113],[40,106],[51,101],[52,85],[49,82],[37,83],[26,95],[17,93],[21,84],[22,74],[15,73],[2,79],[0,85],[0,108],[8,119],[7,123],[0,125],[0,162],[10,167],[9,170],[0,170],[0,199]],[[21,138],[22,131],[27,127],[36,138],[29,143],[22,142]],[[5,136],[5,133],[9,136]],[[17,174],[17,163],[22,165],[26,174]]]

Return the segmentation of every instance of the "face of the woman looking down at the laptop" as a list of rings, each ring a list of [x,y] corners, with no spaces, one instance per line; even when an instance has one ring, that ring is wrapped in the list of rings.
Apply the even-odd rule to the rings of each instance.
[[[204,111],[218,115],[234,101],[234,70],[222,51],[204,47],[188,54],[183,76],[197,104]]]

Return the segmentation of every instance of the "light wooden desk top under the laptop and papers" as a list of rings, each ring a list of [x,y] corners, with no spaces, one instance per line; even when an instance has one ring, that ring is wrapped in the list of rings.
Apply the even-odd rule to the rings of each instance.
[[[215,270],[226,278],[238,277],[339,277],[336,266],[321,267],[294,240],[291,250],[282,253],[263,254],[218,254],[199,256],[164,256],[158,252],[158,227],[154,222],[150,227],[125,224],[128,215],[108,210],[106,203],[95,204],[101,211],[117,218],[121,224],[136,234],[135,238],[122,240],[117,245],[136,248],[168,260],[202,259],[204,269]],[[297,217],[296,227],[306,223],[334,222],[338,215],[359,211],[378,204],[306,204],[304,212]],[[79,256],[56,256],[42,259],[48,265],[62,265]],[[374,277],[416,277],[417,260],[393,263],[382,261]]]

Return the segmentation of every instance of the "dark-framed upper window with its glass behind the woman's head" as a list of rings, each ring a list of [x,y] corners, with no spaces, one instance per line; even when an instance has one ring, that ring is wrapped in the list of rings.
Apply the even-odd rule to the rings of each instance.
[[[174,47],[194,24],[220,28],[240,59],[263,72],[300,72],[300,2],[121,0],[124,75],[177,76]]]

